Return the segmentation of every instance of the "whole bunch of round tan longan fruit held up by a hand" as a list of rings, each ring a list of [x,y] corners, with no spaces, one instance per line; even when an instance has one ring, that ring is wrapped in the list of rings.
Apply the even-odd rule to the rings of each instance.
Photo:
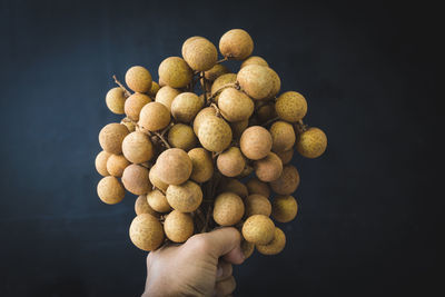
[[[132,92],[115,77],[118,87],[106,103],[125,118],[100,130],[97,192],[109,205],[126,190],[138,196],[129,228],[138,248],[156,250],[234,226],[246,258],[255,248],[264,255],[284,249],[286,236],[274,220],[297,215],[294,151],[317,158],[327,138],[303,122],[306,99],[279,93],[280,78],[253,50],[241,29],[220,38],[220,60],[209,40],[191,37],[182,58],[160,63],[159,83],[141,66],[125,76]],[[224,66],[227,60],[243,61],[237,73]]]

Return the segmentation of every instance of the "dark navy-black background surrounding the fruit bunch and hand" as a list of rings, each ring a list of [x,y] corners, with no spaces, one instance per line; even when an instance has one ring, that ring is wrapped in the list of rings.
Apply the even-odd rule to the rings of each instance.
[[[235,275],[239,296],[438,293],[444,209],[439,10],[378,1],[1,1],[0,296],[138,296],[135,197],[96,195],[105,106],[132,65],[233,28],[306,96],[328,136],[296,158],[299,215],[278,256]],[[443,93],[441,95],[443,97]],[[442,98],[443,99],[443,98]],[[442,176],[441,176],[442,175]],[[442,232],[443,235],[443,232]],[[439,295],[439,294],[438,294]]]

